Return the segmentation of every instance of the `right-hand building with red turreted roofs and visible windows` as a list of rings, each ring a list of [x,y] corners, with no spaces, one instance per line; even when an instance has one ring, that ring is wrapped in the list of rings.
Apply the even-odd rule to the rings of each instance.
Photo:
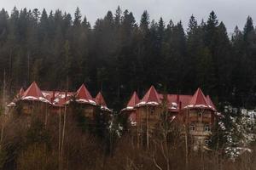
[[[128,115],[133,129],[131,132],[137,136],[146,135],[148,144],[152,132],[160,122],[161,114],[165,111],[168,112],[168,121],[186,127],[183,134],[188,131],[189,142],[195,149],[206,146],[214,122],[219,116],[210,96],[206,97],[200,88],[194,95],[181,95],[158,94],[154,86],[148,89],[141,100],[136,93],[132,94],[128,105],[121,112]]]

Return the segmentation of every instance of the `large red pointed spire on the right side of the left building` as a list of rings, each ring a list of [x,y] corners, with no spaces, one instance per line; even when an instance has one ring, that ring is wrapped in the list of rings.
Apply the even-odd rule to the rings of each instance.
[[[80,103],[90,103],[96,105],[96,102],[92,99],[90,92],[87,88],[85,88],[84,84],[82,84],[77,91],[76,99]]]

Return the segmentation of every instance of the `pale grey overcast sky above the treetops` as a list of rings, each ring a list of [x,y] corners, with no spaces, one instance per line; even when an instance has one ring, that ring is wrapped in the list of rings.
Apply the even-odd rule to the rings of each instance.
[[[256,0],[0,0],[0,5],[8,11],[14,6],[19,9],[46,8],[48,12],[60,8],[71,14],[79,7],[92,25],[97,18],[104,17],[108,10],[114,13],[118,5],[122,10],[127,8],[131,11],[137,22],[146,9],[151,20],[159,20],[160,16],[166,23],[170,19],[174,22],[182,20],[184,27],[191,14],[197,20],[207,20],[208,14],[214,10],[218,20],[224,21],[229,32],[236,25],[242,29],[248,15],[256,20]]]

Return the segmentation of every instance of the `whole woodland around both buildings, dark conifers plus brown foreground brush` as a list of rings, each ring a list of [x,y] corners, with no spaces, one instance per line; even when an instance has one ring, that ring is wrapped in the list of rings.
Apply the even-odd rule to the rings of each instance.
[[[256,28],[248,16],[230,35],[209,12],[207,20],[191,15],[183,26],[151,20],[146,10],[136,21],[120,7],[95,23],[79,8],[74,14],[2,8],[0,169],[254,169]],[[84,83],[93,96],[102,92],[113,114],[97,108],[90,124],[75,103],[64,115],[38,109],[26,116],[19,107],[3,114],[5,102],[33,81],[52,91],[75,91]],[[185,150],[182,127],[166,120],[157,123],[150,147],[134,143],[127,117],[118,113],[133,91],[143,97],[151,85],[162,94],[193,94],[200,87],[211,95],[223,116],[209,150]]]

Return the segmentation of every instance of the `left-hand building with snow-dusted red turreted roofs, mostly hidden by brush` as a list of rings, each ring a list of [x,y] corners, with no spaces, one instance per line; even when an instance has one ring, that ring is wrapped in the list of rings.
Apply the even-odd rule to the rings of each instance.
[[[99,93],[96,99],[92,98],[84,84],[76,92],[65,92],[41,90],[36,82],[32,82],[26,91],[21,88],[19,94],[8,106],[10,109],[19,109],[19,112],[25,115],[31,115],[38,111],[46,114],[58,114],[70,109],[69,106],[72,102],[79,107],[85,117],[90,119],[95,116],[98,108],[104,113],[111,112],[102,94]]]

